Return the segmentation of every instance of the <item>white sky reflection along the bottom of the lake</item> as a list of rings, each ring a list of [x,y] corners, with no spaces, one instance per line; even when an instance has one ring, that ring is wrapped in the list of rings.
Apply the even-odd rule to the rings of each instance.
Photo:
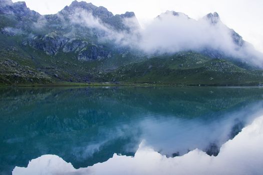
[[[104,163],[75,169],[56,155],[43,155],[30,161],[28,167],[15,167],[13,174],[262,174],[262,145],[260,116],[223,144],[216,157],[195,149],[167,158],[142,142],[134,157],[114,154]]]

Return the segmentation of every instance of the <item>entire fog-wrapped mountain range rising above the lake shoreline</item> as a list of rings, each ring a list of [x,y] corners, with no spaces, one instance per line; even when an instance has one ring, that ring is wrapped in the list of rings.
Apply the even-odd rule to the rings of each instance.
[[[143,30],[134,12],[114,15],[85,1],[49,15],[0,2],[0,84],[263,82],[262,54],[216,12],[194,20],[166,11]],[[195,35],[177,39],[188,30]]]

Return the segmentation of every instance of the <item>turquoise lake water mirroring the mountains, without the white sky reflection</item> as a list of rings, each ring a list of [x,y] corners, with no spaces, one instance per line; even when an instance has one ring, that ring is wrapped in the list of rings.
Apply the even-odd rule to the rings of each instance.
[[[74,168],[134,156],[143,141],[166,157],[217,156],[263,114],[262,88],[0,88],[0,173],[52,154]]]

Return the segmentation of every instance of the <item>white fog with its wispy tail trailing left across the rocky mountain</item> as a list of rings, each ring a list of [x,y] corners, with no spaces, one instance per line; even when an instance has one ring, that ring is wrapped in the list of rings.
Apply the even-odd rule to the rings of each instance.
[[[220,53],[220,56],[263,66],[262,54],[224,25],[217,13],[195,20],[184,13],[166,11],[144,27],[140,27],[136,17],[124,18],[123,24],[130,28],[128,31],[116,30],[83,9],[76,9],[70,17],[72,23],[103,32],[99,35],[100,42],[114,41],[118,46],[130,47],[148,55],[189,50],[203,52],[208,49],[216,52],[212,53],[214,55]]]

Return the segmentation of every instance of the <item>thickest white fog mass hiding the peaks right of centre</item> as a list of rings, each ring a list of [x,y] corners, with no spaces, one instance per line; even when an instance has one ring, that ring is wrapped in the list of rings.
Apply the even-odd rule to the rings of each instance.
[[[148,52],[199,50],[204,47],[227,51],[234,47],[226,27],[211,25],[205,19],[196,21],[183,13],[175,16],[172,11],[155,18],[142,31],[142,36],[141,47]]]

